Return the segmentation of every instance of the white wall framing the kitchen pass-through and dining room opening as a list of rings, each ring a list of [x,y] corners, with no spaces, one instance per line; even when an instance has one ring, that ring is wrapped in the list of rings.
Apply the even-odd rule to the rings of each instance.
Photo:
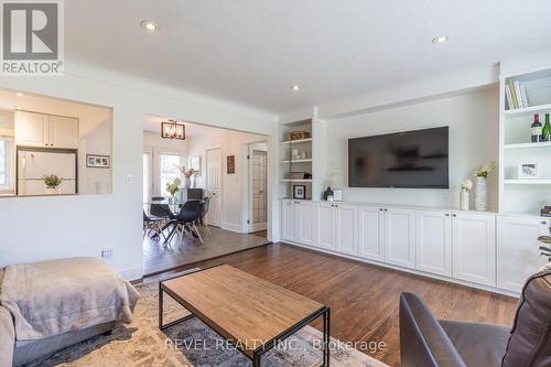
[[[99,256],[130,279],[142,274],[142,134],[145,115],[273,134],[277,117],[66,62],[65,76],[0,77],[0,88],[112,107],[112,194],[0,198],[0,267]]]

